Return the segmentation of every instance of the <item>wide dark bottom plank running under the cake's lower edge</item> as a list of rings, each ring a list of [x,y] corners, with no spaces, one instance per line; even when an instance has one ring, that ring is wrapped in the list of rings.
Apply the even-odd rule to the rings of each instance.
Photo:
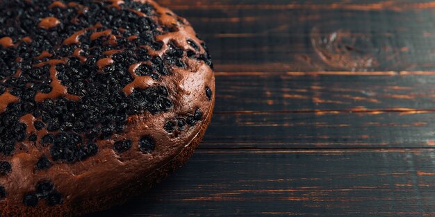
[[[434,216],[434,168],[433,149],[199,150],[151,192],[92,217]]]

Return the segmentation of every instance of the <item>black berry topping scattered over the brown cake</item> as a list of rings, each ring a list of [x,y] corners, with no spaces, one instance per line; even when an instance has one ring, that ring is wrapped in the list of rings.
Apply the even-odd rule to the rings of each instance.
[[[97,141],[123,133],[131,115],[173,109],[173,89],[153,85],[135,87],[127,93],[125,87],[137,76],[150,76],[158,82],[174,75],[177,68],[186,69],[188,57],[213,66],[204,43],[186,39],[190,46],[186,51],[181,46],[186,42],[159,41],[158,35],[179,31],[179,26],[165,26],[151,19],[156,8],[149,3],[125,1],[119,8],[112,8],[106,2],[78,1],[67,8],[49,8],[52,3],[13,0],[0,4],[0,39],[13,42],[0,45],[0,94],[8,92],[17,98],[0,113],[0,155],[13,155],[19,151],[17,144],[32,141],[33,146],[49,150],[48,157],[42,155],[36,162],[38,170],[97,155]],[[81,15],[77,15],[79,10]],[[47,17],[55,17],[59,24],[42,28],[40,22]],[[177,20],[184,24],[183,19]],[[97,28],[96,24],[101,26]],[[163,48],[161,55],[151,51]],[[99,61],[109,58],[113,60],[110,64]],[[132,75],[129,69],[137,63],[140,66]],[[212,98],[208,87],[206,96]],[[20,121],[27,114],[35,117],[33,126],[38,133],[28,133],[27,125]],[[163,127],[167,132],[181,131],[201,119],[202,112],[195,111],[194,115],[174,117]],[[131,146],[130,140],[116,141],[113,149],[123,153]],[[150,153],[155,148],[154,140],[142,137],[139,147],[143,153]],[[0,162],[0,175],[10,170],[8,162]],[[60,193],[53,190],[49,195],[47,204],[62,202]],[[35,206],[38,199],[29,193],[23,201]]]

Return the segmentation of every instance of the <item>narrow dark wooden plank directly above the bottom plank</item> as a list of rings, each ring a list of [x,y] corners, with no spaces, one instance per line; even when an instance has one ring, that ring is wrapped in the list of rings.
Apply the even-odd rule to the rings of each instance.
[[[215,114],[199,148],[430,148],[433,112]]]

